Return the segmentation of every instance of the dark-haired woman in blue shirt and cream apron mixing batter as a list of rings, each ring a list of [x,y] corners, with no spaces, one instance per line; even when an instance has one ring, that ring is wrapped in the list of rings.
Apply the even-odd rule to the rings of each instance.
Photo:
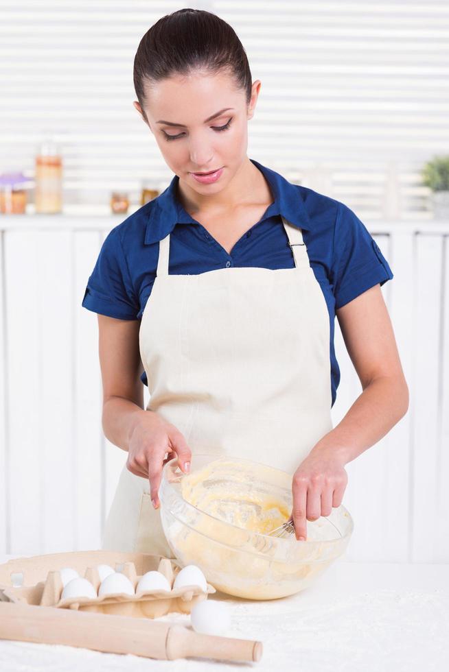
[[[128,452],[103,547],[172,557],[161,469],[176,455],[188,472],[196,452],[290,472],[304,540],[341,504],[345,464],[408,407],[380,290],[393,274],[347,206],[246,156],[261,82],[225,21],[164,16],[134,82],[175,176],[111,230],[82,302],[99,313],[104,433]],[[332,428],[335,315],[363,391]]]

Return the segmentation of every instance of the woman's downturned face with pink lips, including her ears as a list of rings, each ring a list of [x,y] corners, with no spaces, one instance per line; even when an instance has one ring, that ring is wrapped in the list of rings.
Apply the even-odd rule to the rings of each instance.
[[[254,82],[249,106],[244,91],[236,91],[225,73],[176,75],[146,89],[150,130],[165,163],[185,185],[204,195],[227,187],[246,158],[247,122],[253,117],[260,84]],[[137,101],[134,106],[141,113]],[[220,168],[220,178],[211,184],[192,176]]]

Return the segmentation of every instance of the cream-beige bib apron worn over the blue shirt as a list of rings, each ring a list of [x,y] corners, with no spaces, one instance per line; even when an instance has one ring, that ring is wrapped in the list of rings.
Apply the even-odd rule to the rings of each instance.
[[[170,235],[141,318],[147,409],[195,453],[233,455],[293,473],[332,429],[330,322],[301,229],[282,218],[295,267],[169,275]],[[149,481],[126,464],[102,547],[173,557]]]

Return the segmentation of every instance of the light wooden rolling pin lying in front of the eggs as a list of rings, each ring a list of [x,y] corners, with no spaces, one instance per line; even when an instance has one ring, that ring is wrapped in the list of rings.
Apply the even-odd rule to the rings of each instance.
[[[183,625],[111,614],[0,602],[0,639],[62,644],[174,660],[196,656],[258,661],[262,642],[203,635]]]

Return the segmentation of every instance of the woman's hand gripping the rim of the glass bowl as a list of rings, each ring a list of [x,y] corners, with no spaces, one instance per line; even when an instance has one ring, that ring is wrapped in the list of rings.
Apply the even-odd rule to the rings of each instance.
[[[136,476],[149,479],[151,501],[155,509],[160,503],[158,492],[162,467],[175,455],[178,456],[179,467],[187,474],[192,451],[179,429],[155,411],[142,409],[141,413],[137,413],[130,431],[126,468]]]

